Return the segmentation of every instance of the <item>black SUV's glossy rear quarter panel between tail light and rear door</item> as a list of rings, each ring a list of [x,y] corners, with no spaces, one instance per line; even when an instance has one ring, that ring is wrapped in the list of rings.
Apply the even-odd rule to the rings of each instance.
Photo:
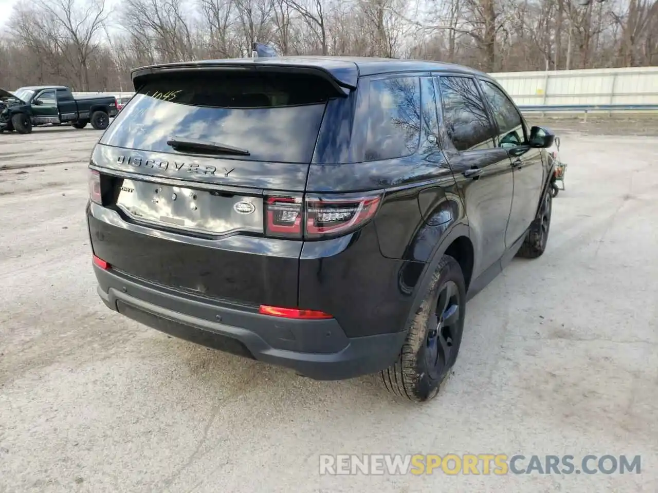
[[[318,162],[344,162],[363,154],[366,126],[359,122],[367,116],[368,83],[359,80],[358,101],[351,106],[357,124],[346,124],[344,114],[334,110],[330,116],[335,121],[328,123],[343,139],[336,139],[334,155],[320,139],[322,152],[309,169],[308,191],[383,195],[372,223],[350,236],[340,258],[323,252],[319,243],[305,243],[302,251],[300,305],[323,300],[318,309],[334,314],[351,337],[405,329],[422,299],[434,259],[447,248],[445,241],[468,236],[455,178],[439,145],[436,104],[424,96],[428,87],[433,88],[431,79],[427,85],[421,82],[422,120],[428,123],[421,126],[417,153],[370,162]]]

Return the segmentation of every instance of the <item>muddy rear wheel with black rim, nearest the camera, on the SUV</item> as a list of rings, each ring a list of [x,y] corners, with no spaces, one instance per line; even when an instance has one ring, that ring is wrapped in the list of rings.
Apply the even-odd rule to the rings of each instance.
[[[457,260],[444,255],[391,367],[384,387],[415,402],[434,398],[457,361],[466,313],[466,283]]]

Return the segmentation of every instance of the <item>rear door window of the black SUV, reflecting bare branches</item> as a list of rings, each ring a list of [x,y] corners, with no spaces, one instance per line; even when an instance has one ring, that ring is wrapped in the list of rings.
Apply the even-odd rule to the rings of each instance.
[[[474,151],[493,146],[493,127],[484,102],[468,77],[440,77],[443,121],[457,151]]]

